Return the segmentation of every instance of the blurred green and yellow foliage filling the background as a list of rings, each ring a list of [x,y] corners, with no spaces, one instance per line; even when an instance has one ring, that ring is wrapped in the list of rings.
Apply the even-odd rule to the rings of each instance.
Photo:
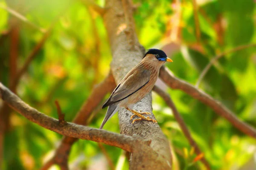
[[[195,84],[201,71],[217,54],[238,45],[256,43],[254,0],[197,0],[201,36],[196,37],[196,24],[191,0],[134,0],[137,35],[145,48],[162,48],[173,63],[166,64],[173,73]],[[104,1],[97,3],[103,6]],[[111,49],[102,17],[80,1],[69,0],[0,0],[1,6],[23,14],[29,22],[52,34],[29,65],[17,87],[17,94],[29,105],[57,118],[54,100],[61,105],[65,119],[72,121],[93,85],[108,74]],[[17,68],[44,34],[27,22],[17,20],[0,8],[0,81],[9,85],[10,35],[12,21],[17,21]],[[176,32],[174,31],[176,29]],[[175,38],[173,38],[173,36]],[[199,38],[199,42],[197,41]],[[164,87],[163,87],[164,88]],[[241,120],[256,127],[256,50],[247,48],[221,58],[207,73],[200,88],[221,101]],[[239,170],[250,164],[256,169],[256,141],[219,117],[209,107],[182,91],[168,89],[192,136],[204,152],[213,170]],[[107,98],[108,96],[106,96]],[[174,167],[204,169],[200,161],[188,166],[195,157],[184,155],[191,146],[177,125],[172,111],[153,93],[153,108],[160,127],[174,151]],[[92,119],[90,127],[98,128],[106,110]],[[0,118],[2,119],[2,118]],[[11,127],[4,138],[3,170],[39,169],[54,153],[61,135],[11,113]],[[119,133],[117,115],[105,125],[106,130]],[[119,148],[106,146],[120,170]],[[254,157],[254,159],[253,159]],[[71,150],[72,169],[108,169],[105,156],[95,142],[79,140]],[[95,166],[95,165],[94,165]],[[53,167],[55,169],[58,167]],[[103,168],[104,169],[104,168]],[[247,168],[248,169],[248,168]]]

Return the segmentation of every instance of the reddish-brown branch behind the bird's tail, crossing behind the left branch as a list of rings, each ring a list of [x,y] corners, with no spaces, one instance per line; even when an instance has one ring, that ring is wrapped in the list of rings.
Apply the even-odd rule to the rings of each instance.
[[[116,85],[112,73],[110,72],[108,74],[108,77],[106,77],[99,85],[94,86],[90,96],[88,97],[86,102],[84,102],[84,104],[81,106],[80,111],[76,114],[76,118],[73,120],[73,123],[79,125],[86,125],[87,119],[90,117],[91,113],[93,113],[97,106],[101,104],[101,101],[104,98],[104,96],[107,93],[112,92],[115,87]],[[41,170],[44,170],[45,167],[49,166],[49,164],[50,166],[52,166],[53,164],[58,164],[60,166],[67,165],[70,149],[73,143],[76,141],[76,138],[64,136],[60,146],[55,151],[53,158],[50,159],[46,164],[44,164]]]

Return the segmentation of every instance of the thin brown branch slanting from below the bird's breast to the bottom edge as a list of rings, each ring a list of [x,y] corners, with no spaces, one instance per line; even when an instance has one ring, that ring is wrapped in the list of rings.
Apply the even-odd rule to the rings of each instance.
[[[183,131],[184,135],[189,141],[189,144],[195,148],[195,153],[197,155],[200,155],[202,152],[200,148],[198,147],[198,144],[195,142],[195,140],[192,138],[192,135],[189,132],[188,127],[186,126],[186,123],[184,122],[183,118],[180,116],[180,113],[178,112],[174,102],[172,101],[171,97],[162,89],[158,88],[157,86],[154,86],[153,90],[163,98],[163,100],[166,102],[166,104],[172,109],[173,116],[177,120],[181,130]],[[207,170],[210,170],[211,167],[206,159],[201,159],[202,163],[207,167]]]

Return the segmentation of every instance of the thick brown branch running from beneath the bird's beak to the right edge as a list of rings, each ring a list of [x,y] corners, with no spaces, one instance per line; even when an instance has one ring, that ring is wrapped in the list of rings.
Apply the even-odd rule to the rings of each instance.
[[[230,111],[217,100],[213,99],[204,91],[195,88],[193,85],[189,84],[186,81],[178,79],[172,74],[171,71],[169,71],[165,67],[162,67],[160,69],[159,77],[163,80],[163,82],[169,85],[170,88],[180,89],[186,94],[192,96],[193,98],[200,100],[202,103],[212,108],[212,110],[214,110],[218,115],[227,119],[227,121],[229,121],[237,129],[241,130],[243,133],[249,136],[252,136],[253,138],[256,138],[256,129],[254,127],[239,120],[232,111]]]

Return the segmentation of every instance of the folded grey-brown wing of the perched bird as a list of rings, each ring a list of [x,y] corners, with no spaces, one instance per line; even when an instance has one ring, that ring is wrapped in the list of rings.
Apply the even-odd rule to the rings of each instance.
[[[131,96],[145,86],[149,82],[149,79],[150,71],[145,69],[143,65],[138,65],[138,67],[132,69],[122,79],[102,108]]]

